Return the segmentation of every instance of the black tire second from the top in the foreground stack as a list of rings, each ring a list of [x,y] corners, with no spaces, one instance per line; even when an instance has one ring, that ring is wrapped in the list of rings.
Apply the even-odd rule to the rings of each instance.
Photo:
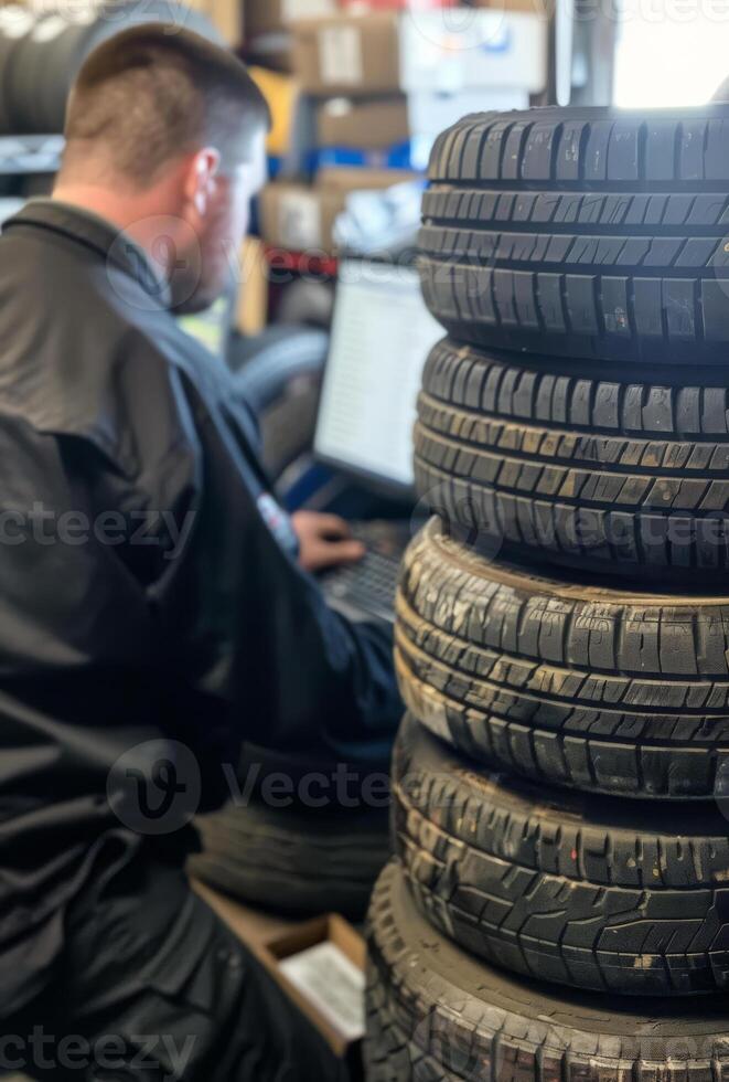
[[[704,370],[708,376],[716,369]],[[682,373],[683,375],[683,373]],[[695,582],[729,569],[729,389],[525,363],[448,339],[425,369],[420,495],[490,552]]]

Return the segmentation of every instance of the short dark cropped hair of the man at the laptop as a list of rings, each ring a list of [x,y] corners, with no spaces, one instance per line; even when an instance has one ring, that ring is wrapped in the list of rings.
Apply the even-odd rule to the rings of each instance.
[[[223,168],[249,160],[268,106],[232,53],[163,23],[122,31],[86,60],[66,114],[66,161],[100,149],[111,168],[151,183],[169,161],[202,146]]]

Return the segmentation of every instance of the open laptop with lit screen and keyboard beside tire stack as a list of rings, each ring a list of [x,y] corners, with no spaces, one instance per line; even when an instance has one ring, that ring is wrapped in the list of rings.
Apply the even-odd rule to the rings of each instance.
[[[428,353],[442,337],[411,265],[340,263],[314,455],[414,511],[418,392]],[[323,576],[330,604],[350,618],[392,623],[399,565],[415,529],[414,518],[353,523],[367,555]]]

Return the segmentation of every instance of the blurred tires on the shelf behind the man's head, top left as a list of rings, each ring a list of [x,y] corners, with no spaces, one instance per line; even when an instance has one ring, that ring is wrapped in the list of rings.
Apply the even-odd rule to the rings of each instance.
[[[89,53],[120,31],[147,22],[167,23],[171,33],[184,28],[222,43],[203,14],[173,0],[54,0],[37,10],[24,3],[0,6],[0,135],[62,132],[68,93]]]

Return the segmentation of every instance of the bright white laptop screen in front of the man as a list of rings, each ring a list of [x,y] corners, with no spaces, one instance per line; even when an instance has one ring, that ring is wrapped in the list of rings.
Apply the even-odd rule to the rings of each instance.
[[[442,337],[422,300],[417,270],[343,261],[317,457],[392,488],[411,488],[412,426],[422,369]]]

